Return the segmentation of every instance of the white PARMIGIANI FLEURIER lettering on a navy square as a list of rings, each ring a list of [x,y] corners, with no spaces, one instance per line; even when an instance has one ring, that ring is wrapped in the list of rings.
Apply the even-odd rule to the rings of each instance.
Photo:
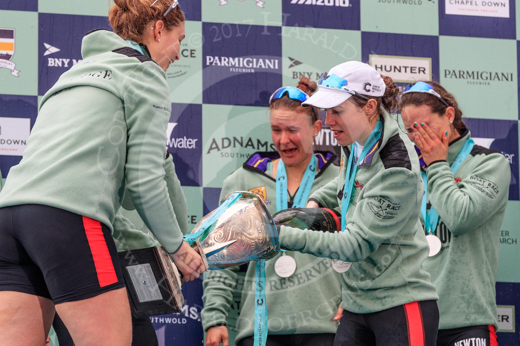
[[[215,57],[206,56],[206,66],[224,66],[229,72],[255,73],[279,70],[280,60],[267,57]]]

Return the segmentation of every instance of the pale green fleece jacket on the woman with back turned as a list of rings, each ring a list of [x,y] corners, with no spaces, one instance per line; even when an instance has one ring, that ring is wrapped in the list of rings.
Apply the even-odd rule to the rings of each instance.
[[[21,162],[11,168],[0,207],[54,206],[112,230],[126,188],[166,251],[183,234],[164,182],[170,92],[164,71],[118,35],[83,38],[81,63],[43,96]]]

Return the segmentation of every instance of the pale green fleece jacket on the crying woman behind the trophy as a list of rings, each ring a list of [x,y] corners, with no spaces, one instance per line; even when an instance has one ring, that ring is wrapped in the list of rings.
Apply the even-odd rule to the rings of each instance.
[[[332,154],[315,154],[318,168],[321,169],[317,171],[311,191],[327,184],[339,172],[339,168],[331,164],[334,159]],[[276,158],[279,158],[276,152],[253,155],[243,168],[224,180],[220,198],[229,192],[249,190],[261,196],[274,214],[276,186],[271,160]],[[296,261],[296,271],[289,278],[281,278],[274,269],[281,253],[265,263],[269,334],[336,333],[337,323],[332,319],[341,300],[341,283],[330,260],[297,252],[287,252],[286,255]],[[235,303],[233,292],[241,290],[235,343],[254,334],[255,263],[249,264],[244,282],[237,281],[239,266],[207,272],[203,282],[204,308],[201,312],[204,330],[226,323],[230,306]]]

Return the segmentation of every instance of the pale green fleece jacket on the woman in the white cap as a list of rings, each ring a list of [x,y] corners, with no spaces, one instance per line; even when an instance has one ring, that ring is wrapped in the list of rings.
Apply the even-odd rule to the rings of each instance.
[[[341,276],[341,307],[354,313],[386,310],[412,301],[438,299],[422,267],[428,244],[419,220],[424,191],[419,158],[408,137],[387,113],[383,133],[372,155],[356,174],[340,233],[281,227],[280,245],[353,262]],[[314,192],[324,207],[340,208],[350,148],[343,147],[339,176]]]

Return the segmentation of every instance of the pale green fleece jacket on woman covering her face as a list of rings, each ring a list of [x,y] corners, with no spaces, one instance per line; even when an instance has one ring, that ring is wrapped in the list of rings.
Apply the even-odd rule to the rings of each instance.
[[[499,233],[511,169],[500,151],[475,145],[451,173],[450,165],[468,137],[470,131],[465,130],[450,143],[447,161],[426,168],[427,207],[432,205],[439,213],[435,234],[442,247],[424,261],[424,269],[439,294],[439,329],[490,324],[498,328]]]

